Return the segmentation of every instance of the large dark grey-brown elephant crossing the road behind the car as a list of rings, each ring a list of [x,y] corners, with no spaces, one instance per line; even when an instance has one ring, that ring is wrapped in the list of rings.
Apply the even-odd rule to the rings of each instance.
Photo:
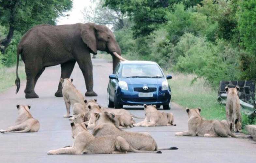
[[[111,30],[105,25],[95,23],[76,23],[69,25],[40,24],[27,31],[17,46],[16,94],[20,89],[18,76],[19,55],[25,64],[25,98],[38,98],[35,85],[45,67],[61,65],[60,78],[69,78],[77,62],[83,72],[86,85],[85,96],[98,96],[93,91],[93,65],[90,53],[105,51],[112,55],[113,71],[116,65],[125,61],[121,49]],[[59,82],[55,96],[62,96]]]

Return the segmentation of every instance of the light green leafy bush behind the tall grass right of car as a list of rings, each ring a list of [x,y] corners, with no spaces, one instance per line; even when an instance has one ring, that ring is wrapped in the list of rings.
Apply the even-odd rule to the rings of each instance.
[[[223,40],[217,45],[205,37],[186,33],[173,49],[177,57],[175,69],[205,77],[213,86],[221,80],[237,80],[240,76],[239,52]]]

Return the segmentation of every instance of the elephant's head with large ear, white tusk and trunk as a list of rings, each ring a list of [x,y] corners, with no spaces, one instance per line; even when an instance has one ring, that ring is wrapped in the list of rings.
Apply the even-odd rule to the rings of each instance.
[[[83,42],[89,47],[91,53],[97,54],[97,51],[100,50],[112,55],[113,71],[120,60],[126,61],[121,57],[121,49],[113,33],[105,25],[85,23],[81,25],[80,33]]]

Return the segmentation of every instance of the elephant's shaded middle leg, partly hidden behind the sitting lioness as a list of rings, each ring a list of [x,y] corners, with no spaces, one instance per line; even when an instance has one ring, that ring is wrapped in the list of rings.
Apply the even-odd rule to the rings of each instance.
[[[60,78],[65,79],[69,78],[74,67],[75,67],[76,61],[69,61],[66,63],[61,64],[61,76]],[[56,97],[62,97],[62,84],[59,82],[58,90],[55,93]]]

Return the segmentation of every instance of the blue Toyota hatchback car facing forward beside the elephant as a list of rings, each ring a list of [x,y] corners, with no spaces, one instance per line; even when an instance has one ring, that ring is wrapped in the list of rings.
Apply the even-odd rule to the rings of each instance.
[[[156,62],[120,62],[109,76],[108,107],[123,108],[123,105],[163,105],[170,110],[171,88],[162,69]]]

